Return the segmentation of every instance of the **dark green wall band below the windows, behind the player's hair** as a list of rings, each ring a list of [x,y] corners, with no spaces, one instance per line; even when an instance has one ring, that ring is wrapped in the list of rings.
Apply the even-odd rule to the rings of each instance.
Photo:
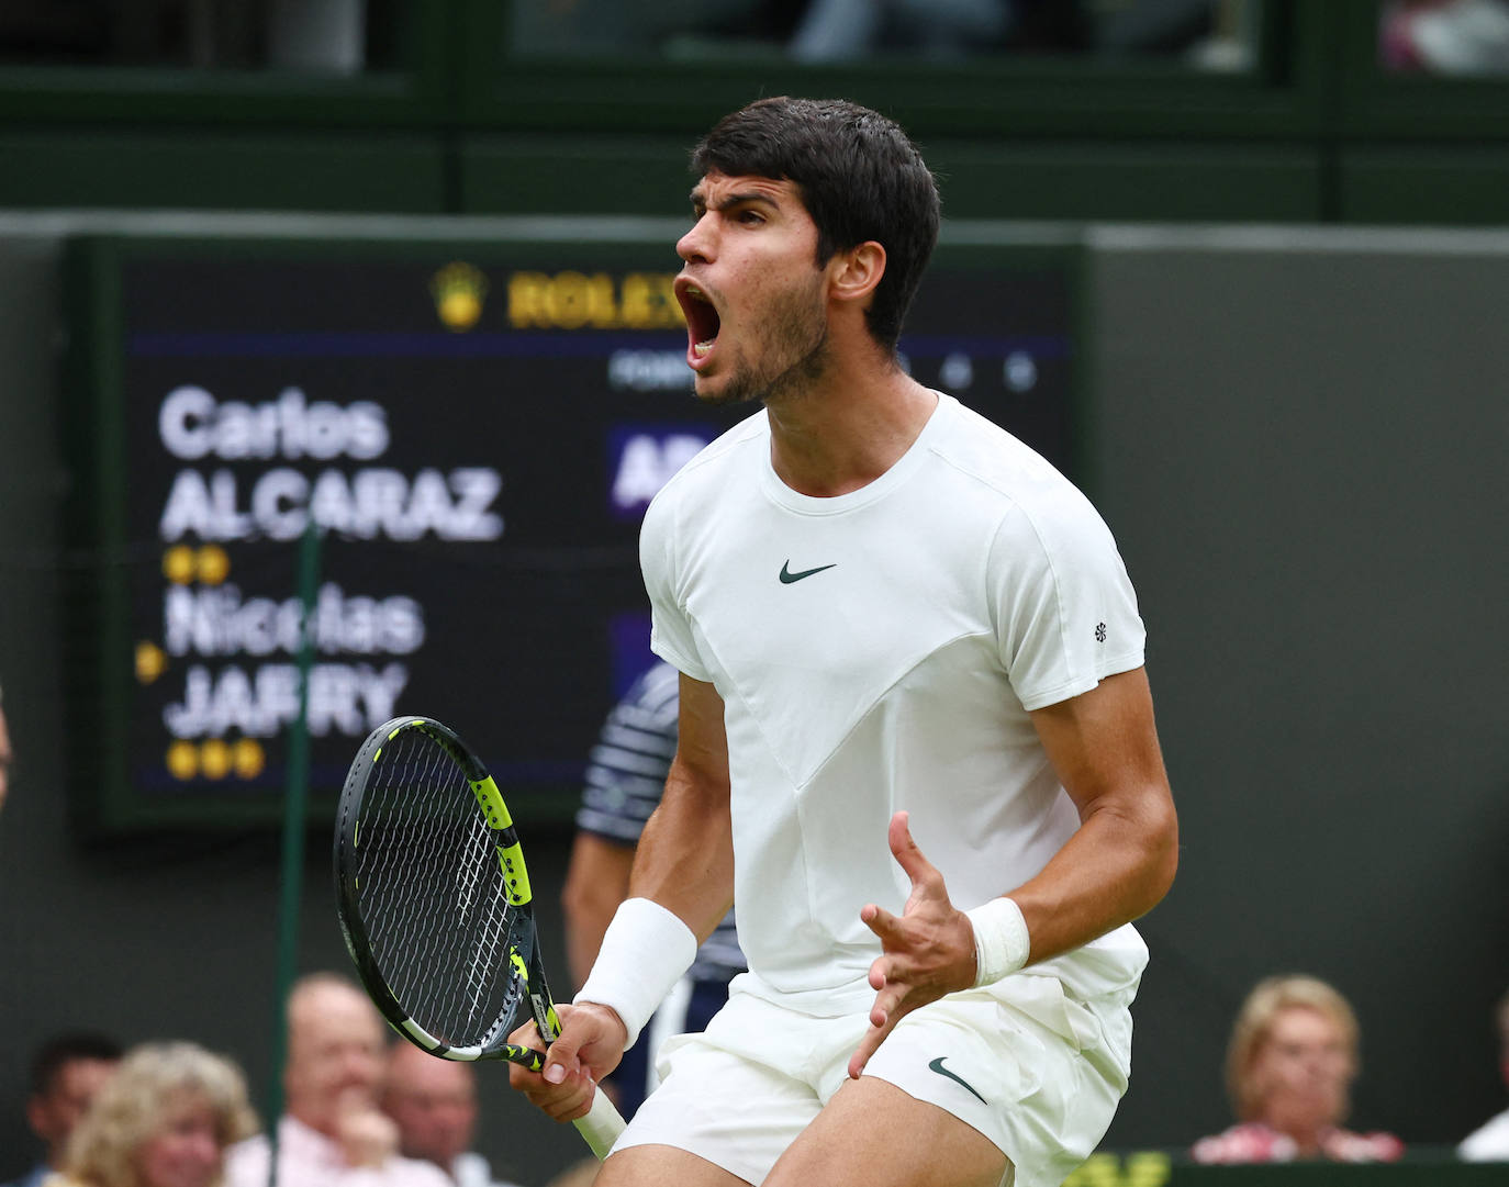
[[[539,62],[509,56],[496,3],[412,8],[406,66],[353,80],[0,68],[0,208],[665,214],[721,113],[824,94],[899,118],[955,217],[1509,213],[1509,81],[1381,74],[1367,0],[1266,0],[1260,62],[1234,74],[1031,56]]]

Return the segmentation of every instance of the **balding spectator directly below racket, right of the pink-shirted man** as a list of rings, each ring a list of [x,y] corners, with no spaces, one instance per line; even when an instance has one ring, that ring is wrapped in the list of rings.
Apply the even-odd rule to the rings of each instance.
[[[382,1107],[398,1127],[398,1152],[435,1163],[456,1187],[509,1187],[472,1151],[477,1084],[471,1063],[397,1042],[388,1051]]]

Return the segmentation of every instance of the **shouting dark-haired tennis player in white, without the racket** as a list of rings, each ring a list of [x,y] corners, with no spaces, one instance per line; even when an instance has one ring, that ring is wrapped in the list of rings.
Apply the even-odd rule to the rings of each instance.
[[[696,392],[764,410],[646,516],[679,748],[634,897],[510,1075],[584,1113],[733,899],[750,971],[599,1184],[1058,1184],[1127,1087],[1130,922],[1177,863],[1132,585],[1068,481],[899,365],[939,196],[895,124],[762,100],[693,170]]]

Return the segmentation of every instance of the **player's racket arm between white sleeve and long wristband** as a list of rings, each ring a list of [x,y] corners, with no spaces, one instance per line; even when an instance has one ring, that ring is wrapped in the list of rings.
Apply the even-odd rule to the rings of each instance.
[[[679,722],[665,795],[640,837],[629,893],[675,912],[700,943],[733,905],[729,741],[712,685],[681,677]]]

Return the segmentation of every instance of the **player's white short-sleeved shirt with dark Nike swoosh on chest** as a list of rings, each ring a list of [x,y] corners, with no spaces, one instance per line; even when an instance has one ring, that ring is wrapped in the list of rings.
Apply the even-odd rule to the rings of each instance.
[[[952,397],[836,498],[785,486],[750,416],[667,483],[640,554],[653,650],[724,703],[747,991],[869,1008],[860,908],[910,893],[895,811],[961,909],[1079,827],[1028,710],[1141,667],[1136,597],[1089,501]],[[1083,997],[1133,989],[1145,961],[1126,926],[1029,973]]]

